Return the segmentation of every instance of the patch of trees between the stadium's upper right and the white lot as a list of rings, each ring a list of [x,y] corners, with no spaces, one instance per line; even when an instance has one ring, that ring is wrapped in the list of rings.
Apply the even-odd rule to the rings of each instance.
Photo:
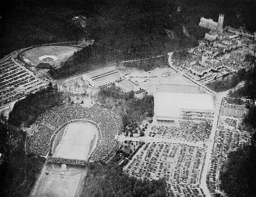
[[[134,91],[125,93],[114,85],[101,87],[98,93],[98,102],[120,114],[124,128],[131,122],[142,121],[145,117],[154,116],[154,97],[152,95],[137,99],[134,97]]]

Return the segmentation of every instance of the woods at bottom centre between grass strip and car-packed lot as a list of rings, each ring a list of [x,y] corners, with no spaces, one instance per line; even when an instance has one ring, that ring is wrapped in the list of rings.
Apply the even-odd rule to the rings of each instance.
[[[80,197],[167,197],[164,179],[138,180],[115,163],[90,163]]]

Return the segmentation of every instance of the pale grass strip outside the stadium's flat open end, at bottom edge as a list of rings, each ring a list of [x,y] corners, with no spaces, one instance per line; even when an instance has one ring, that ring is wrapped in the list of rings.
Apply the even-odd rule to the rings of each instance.
[[[67,174],[63,178],[59,178],[60,171],[61,164],[46,163],[30,197],[77,197],[87,170],[80,166],[67,166]]]

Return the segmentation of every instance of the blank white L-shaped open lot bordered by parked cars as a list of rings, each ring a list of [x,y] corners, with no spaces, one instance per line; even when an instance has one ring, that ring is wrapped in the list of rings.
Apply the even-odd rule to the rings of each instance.
[[[180,117],[180,109],[213,111],[212,96],[180,92],[160,92],[154,96],[157,116]]]

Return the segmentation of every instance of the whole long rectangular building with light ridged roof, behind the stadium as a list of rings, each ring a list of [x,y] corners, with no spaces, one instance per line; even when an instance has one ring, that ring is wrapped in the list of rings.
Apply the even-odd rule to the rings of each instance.
[[[108,85],[120,80],[119,71],[112,67],[105,67],[82,74],[84,82],[93,87]]]

